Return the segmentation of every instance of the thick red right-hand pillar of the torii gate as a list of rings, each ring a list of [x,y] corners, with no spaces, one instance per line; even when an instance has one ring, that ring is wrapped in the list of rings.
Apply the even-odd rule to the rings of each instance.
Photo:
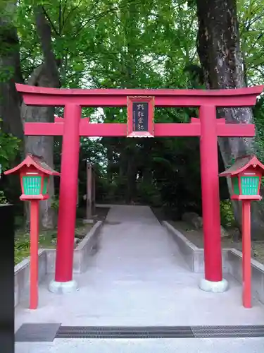
[[[201,106],[199,117],[205,278],[219,282],[222,281],[222,251],[215,107]]]

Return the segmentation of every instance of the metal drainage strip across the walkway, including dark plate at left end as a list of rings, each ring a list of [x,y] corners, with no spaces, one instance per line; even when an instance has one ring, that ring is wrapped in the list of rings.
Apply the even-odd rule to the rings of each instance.
[[[61,326],[24,323],[16,342],[52,342],[54,338],[217,338],[264,337],[264,325],[239,326]]]

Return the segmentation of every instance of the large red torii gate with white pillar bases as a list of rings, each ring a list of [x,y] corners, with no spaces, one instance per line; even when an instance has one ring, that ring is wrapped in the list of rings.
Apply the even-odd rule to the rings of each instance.
[[[224,292],[220,235],[218,181],[218,136],[253,137],[253,124],[225,124],[216,119],[217,107],[252,107],[264,85],[230,90],[131,90],[131,89],[58,89],[16,84],[25,104],[64,107],[64,119],[54,123],[25,123],[27,136],[63,136],[61,157],[60,208],[55,280],[51,292],[69,292],[73,281],[73,251],[77,199],[77,175],[80,136],[127,136],[127,124],[90,124],[81,119],[82,107],[126,107],[127,97],[155,97],[156,107],[199,107],[199,119],[189,124],[154,124],[153,136],[199,136],[201,151],[201,189],[205,278],[200,288]]]

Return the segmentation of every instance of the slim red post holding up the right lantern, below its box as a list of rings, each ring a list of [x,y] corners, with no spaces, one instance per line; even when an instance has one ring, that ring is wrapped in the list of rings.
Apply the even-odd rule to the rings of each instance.
[[[251,201],[242,201],[243,305],[251,308]]]

